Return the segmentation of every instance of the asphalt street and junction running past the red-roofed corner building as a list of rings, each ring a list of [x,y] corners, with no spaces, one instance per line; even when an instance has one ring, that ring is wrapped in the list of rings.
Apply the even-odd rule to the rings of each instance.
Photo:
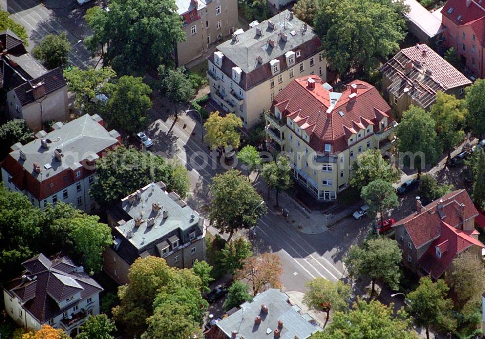
[[[191,135],[192,131],[183,129],[183,119],[173,124],[172,120],[157,119],[148,134],[155,145],[152,152],[162,152],[167,157],[175,157],[189,170],[194,194],[188,200],[189,205],[204,214],[205,207],[210,203],[208,185],[217,173],[225,169],[220,163],[214,166],[209,157],[206,144],[201,143],[198,136]],[[194,129],[198,132],[198,129]],[[171,145],[175,145],[175,148]],[[207,156],[197,156],[202,154]],[[190,166],[190,159],[197,159],[197,163],[205,166],[194,169]],[[259,219],[256,227],[254,246],[260,253],[271,251],[276,253],[282,261],[283,274],[281,282],[285,291],[305,291],[305,282],[315,278],[324,277],[337,280],[344,276],[344,266],[341,259],[350,247],[356,242],[360,229],[365,221],[359,222],[344,220],[341,225],[317,235],[302,234],[294,230],[282,216],[276,215],[272,210]],[[359,224],[362,227],[356,226]]]

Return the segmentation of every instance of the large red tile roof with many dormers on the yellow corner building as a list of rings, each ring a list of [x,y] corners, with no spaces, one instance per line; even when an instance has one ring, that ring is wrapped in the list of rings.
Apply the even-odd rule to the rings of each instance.
[[[315,81],[315,88],[308,87],[308,80]],[[333,145],[333,152],[348,148],[351,134],[374,125],[379,130],[380,122],[388,117],[391,124],[390,107],[377,89],[365,81],[349,83],[343,93],[329,92],[323,88],[323,81],[316,75],[291,81],[273,101],[272,111],[277,106],[283,117],[290,117],[309,134],[309,145],[317,152],[324,151],[324,144]],[[351,96],[351,86],[356,86],[356,97]],[[335,107],[332,106],[332,99]],[[327,113],[329,111],[329,113]]]

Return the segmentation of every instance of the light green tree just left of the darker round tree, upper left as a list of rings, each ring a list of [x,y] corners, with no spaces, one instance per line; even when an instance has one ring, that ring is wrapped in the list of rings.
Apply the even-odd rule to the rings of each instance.
[[[74,107],[82,110],[83,113],[97,113],[103,103],[97,101],[95,97],[97,94],[106,94],[108,88],[105,88],[105,85],[110,79],[116,77],[116,72],[110,67],[97,69],[92,66],[87,69],[72,67],[69,71],[64,70],[64,77],[67,81],[67,90],[76,95]]]

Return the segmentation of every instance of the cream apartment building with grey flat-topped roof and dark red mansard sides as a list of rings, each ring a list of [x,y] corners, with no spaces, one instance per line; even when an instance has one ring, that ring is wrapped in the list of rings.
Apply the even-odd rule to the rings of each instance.
[[[321,42],[313,29],[285,10],[217,46],[208,58],[210,97],[254,126],[293,79],[326,79]]]

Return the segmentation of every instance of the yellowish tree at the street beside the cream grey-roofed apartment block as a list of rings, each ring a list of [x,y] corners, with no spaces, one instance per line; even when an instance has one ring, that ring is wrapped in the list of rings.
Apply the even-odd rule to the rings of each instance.
[[[241,118],[234,113],[228,113],[226,116],[220,116],[217,111],[210,113],[204,123],[210,148],[218,149],[228,145],[238,148],[241,142],[241,133],[238,129],[241,127]]]

